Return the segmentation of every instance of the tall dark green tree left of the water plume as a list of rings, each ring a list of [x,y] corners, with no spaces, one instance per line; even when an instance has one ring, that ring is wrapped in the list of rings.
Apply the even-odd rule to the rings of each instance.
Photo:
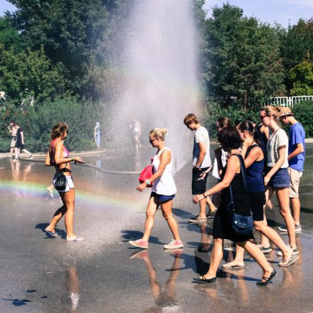
[[[63,64],[66,88],[86,95],[88,74],[95,65],[97,42],[106,33],[106,1],[10,2],[17,7],[11,18],[26,43],[36,51],[43,46],[53,65]]]

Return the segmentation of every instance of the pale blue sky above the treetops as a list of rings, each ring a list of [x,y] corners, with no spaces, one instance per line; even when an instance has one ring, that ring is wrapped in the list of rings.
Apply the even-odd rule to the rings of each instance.
[[[226,0],[206,0],[205,9],[211,16],[213,6],[222,6]],[[280,23],[287,28],[295,25],[299,18],[313,17],[313,0],[228,0],[230,4],[243,9],[245,16],[254,16],[262,22]],[[6,0],[0,0],[0,15],[13,11],[15,7]]]

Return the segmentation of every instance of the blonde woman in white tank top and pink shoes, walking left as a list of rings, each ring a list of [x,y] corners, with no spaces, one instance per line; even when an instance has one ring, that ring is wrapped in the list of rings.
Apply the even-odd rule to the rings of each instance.
[[[137,186],[137,190],[141,192],[148,185],[153,184],[152,193],[146,210],[147,218],[144,227],[144,235],[141,239],[129,240],[131,245],[138,248],[149,248],[149,237],[154,225],[154,216],[159,206],[161,206],[162,214],[169,224],[169,229],[174,236],[174,240],[171,240],[168,245],[164,245],[164,249],[184,247],[179,236],[179,228],[171,213],[176,186],[172,176],[173,160],[171,157],[171,151],[165,146],[164,142],[164,135],[166,133],[167,130],[165,128],[154,128],[149,134],[149,142],[152,147],[157,148],[157,154],[155,154],[152,162],[154,174],[150,179],[147,179],[147,181]]]

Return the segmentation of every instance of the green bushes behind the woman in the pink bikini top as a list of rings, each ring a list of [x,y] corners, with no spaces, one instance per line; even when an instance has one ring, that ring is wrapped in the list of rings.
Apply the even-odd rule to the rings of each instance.
[[[38,107],[26,107],[23,112],[6,105],[3,108],[0,132],[0,151],[9,151],[10,133],[6,129],[10,120],[15,120],[23,129],[25,146],[31,152],[46,152],[51,142],[51,129],[58,122],[69,127],[66,147],[81,151],[95,149],[93,129],[98,120],[99,107],[91,102],[80,102],[73,97],[47,101]]]

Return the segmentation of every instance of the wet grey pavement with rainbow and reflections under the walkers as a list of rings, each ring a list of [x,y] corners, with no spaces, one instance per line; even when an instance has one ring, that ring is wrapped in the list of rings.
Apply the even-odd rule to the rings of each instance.
[[[85,240],[66,243],[63,221],[58,238],[48,238],[43,231],[60,207],[58,194],[51,198],[46,192],[53,169],[36,161],[0,159],[0,312],[313,312],[312,150],[313,144],[308,144],[300,187],[300,258],[281,269],[275,251],[268,254],[278,275],[266,287],[255,285],[262,272],[248,255],[245,268],[219,270],[216,283],[192,282],[208,270],[212,221],[186,222],[198,211],[191,202],[189,166],[175,176],[174,214],[184,249],[163,249],[171,233],[158,212],[149,251],[140,251],[127,243],[142,235],[149,198],[149,191],[135,190],[137,175],[73,165],[75,232]],[[149,154],[152,149],[144,157],[122,152],[86,159],[112,170],[121,168],[117,159],[131,159],[127,170],[138,171],[146,160],[149,163]],[[208,180],[208,186],[213,183]],[[267,216],[272,226],[281,225],[275,200]],[[223,262],[232,258],[233,252],[224,250]]]

